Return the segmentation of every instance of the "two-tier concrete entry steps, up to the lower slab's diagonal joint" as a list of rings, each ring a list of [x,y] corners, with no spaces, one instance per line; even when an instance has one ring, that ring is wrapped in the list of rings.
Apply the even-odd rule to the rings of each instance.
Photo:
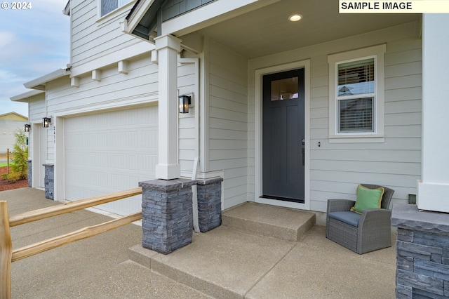
[[[130,260],[213,298],[252,298],[251,291],[315,224],[315,214],[246,203],[222,213],[222,225],[194,233],[168,255],[136,245]]]

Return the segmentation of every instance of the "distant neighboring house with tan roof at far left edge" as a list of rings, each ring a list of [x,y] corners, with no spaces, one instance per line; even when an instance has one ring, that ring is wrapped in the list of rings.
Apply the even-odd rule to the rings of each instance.
[[[27,117],[15,112],[0,115],[0,154],[4,154],[8,150],[13,152],[15,144],[14,133],[22,131],[27,123]]]

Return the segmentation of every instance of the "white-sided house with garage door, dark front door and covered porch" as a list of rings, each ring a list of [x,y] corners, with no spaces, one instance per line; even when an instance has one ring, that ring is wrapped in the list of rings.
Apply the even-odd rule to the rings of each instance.
[[[25,83],[44,93],[13,98],[29,103],[32,185],[54,167],[56,200],[222,177],[222,208],[326,212],[359,182],[403,203],[418,180],[418,196],[434,182],[449,189],[447,147],[422,145],[427,130],[441,138],[426,142],[449,140],[447,117],[434,122],[448,108],[438,93],[448,15],[340,14],[338,1],[302,0],[72,0],[65,13],[67,69]],[[178,95],[192,98],[188,114]],[[440,167],[441,180],[424,180]],[[126,214],[140,199],[105,209]]]

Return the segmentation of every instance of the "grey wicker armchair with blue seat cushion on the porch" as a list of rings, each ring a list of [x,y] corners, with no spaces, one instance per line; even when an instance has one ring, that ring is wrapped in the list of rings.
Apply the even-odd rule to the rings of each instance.
[[[360,189],[359,189],[360,188]],[[383,194],[378,188],[383,188]],[[381,189],[382,190],[382,189]],[[394,190],[379,185],[361,184],[357,187],[357,201],[329,199],[326,215],[326,238],[358,254],[391,247],[391,211],[388,209]],[[381,197],[380,208],[363,208],[363,194]],[[367,197],[367,196],[366,196]],[[375,196],[373,196],[375,197]],[[354,208],[358,204],[356,213]],[[378,201],[377,201],[377,204]]]

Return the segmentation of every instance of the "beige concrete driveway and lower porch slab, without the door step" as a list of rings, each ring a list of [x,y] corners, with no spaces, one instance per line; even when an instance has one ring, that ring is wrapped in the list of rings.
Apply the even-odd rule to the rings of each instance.
[[[10,215],[58,204],[28,187],[0,192],[0,200]],[[109,219],[78,211],[13,227],[13,246]],[[218,227],[161,255],[140,246],[141,227],[126,225],[13,263],[13,298],[395,298],[394,247],[358,255],[325,235],[315,226],[293,242]]]

